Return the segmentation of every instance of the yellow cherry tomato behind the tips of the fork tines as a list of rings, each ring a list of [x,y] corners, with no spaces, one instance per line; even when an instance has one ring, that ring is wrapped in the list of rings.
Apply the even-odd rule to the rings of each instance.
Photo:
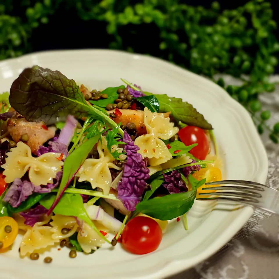
[[[197,180],[202,180],[203,178],[206,179],[206,182],[214,182],[214,181],[219,181],[222,180],[222,173],[221,170],[217,167],[207,167],[204,169],[200,169],[199,171],[194,172],[193,177],[196,178]],[[202,188],[206,188],[206,187],[216,187],[219,185],[202,185],[201,187],[199,187],[197,189],[197,198],[208,198],[209,196],[200,196],[199,193],[206,193],[208,192],[207,190],[202,190]],[[216,192],[210,190],[210,192]]]

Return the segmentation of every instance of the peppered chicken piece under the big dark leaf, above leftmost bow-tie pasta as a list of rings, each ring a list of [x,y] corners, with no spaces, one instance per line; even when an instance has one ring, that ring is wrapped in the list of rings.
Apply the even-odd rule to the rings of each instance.
[[[44,122],[28,122],[24,117],[12,117],[8,120],[8,132],[15,142],[21,140],[22,135],[27,135],[26,144],[33,154],[37,154],[39,146],[54,137],[56,127],[44,125]]]

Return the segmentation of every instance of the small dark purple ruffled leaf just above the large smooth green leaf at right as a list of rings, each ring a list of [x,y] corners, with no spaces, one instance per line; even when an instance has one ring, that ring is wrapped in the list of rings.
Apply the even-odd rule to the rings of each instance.
[[[163,174],[164,183],[162,184],[170,194],[187,192],[187,186],[183,180],[181,180],[181,174],[178,171],[172,171],[171,174]]]

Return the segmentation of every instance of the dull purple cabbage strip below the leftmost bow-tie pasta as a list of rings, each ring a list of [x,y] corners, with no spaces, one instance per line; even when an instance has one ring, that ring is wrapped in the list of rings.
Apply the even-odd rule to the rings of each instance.
[[[14,208],[18,207],[23,201],[25,201],[28,196],[33,193],[50,193],[52,189],[56,188],[62,178],[62,171],[56,174],[56,178],[53,178],[53,183],[48,183],[47,185],[35,186],[32,182],[28,180],[21,180],[20,178],[15,178],[14,182],[10,186],[6,196],[3,201],[10,203]]]

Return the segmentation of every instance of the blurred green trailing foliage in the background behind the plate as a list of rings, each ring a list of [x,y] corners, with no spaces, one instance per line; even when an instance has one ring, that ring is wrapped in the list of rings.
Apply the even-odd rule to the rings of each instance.
[[[225,85],[222,78],[216,82],[251,113],[259,133],[267,130],[271,140],[278,142],[279,123],[274,127],[266,124],[271,113],[262,111],[258,99],[259,94],[274,91],[269,76],[278,64],[279,43],[273,33],[277,24],[269,2],[253,0],[234,10],[221,10],[216,1],[210,9],[179,0],[1,3],[0,59],[32,51],[33,29],[59,17],[62,7],[84,21],[106,23],[103,36],[108,37],[111,49],[158,56],[213,80],[217,73],[240,78],[241,86]]]

